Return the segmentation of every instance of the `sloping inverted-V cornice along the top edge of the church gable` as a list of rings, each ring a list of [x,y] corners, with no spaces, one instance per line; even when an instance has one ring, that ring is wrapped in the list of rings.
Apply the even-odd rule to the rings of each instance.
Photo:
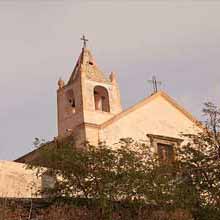
[[[180,106],[174,99],[172,99],[169,95],[167,95],[163,91],[159,91],[142,101],[138,102],[137,104],[133,105],[132,107],[128,108],[127,110],[115,115],[108,121],[104,122],[103,124],[100,125],[100,128],[105,128],[108,125],[118,121],[119,119],[125,117],[126,115],[130,114],[131,112],[135,111],[138,108],[141,108],[142,106],[148,104],[149,102],[153,101],[157,97],[163,97],[167,102],[169,102],[174,108],[179,110],[183,115],[185,115],[190,121],[192,121],[194,124],[196,124],[198,127],[203,128],[201,122],[199,122],[190,112],[188,112],[186,109],[184,109],[182,106]]]

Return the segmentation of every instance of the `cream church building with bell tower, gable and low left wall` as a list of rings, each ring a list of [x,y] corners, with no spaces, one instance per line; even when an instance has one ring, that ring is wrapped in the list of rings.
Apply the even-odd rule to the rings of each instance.
[[[162,159],[167,159],[170,152],[174,153],[175,148],[181,147],[186,141],[182,133],[201,131],[200,123],[163,91],[155,92],[127,110],[122,110],[116,74],[112,72],[106,77],[85,46],[69,80],[58,81],[57,113],[56,139],[71,136],[78,145],[89,141],[92,145],[106,142],[114,147],[121,138],[133,138],[147,142]],[[33,161],[36,155],[37,150],[34,150],[14,162],[8,162],[13,164],[4,177],[0,166],[0,194],[7,195],[6,188],[1,187],[7,182],[13,185],[7,187],[13,187],[13,192],[8,193],[9,197],[15,194],[16,185],[26,184],[21,179],[13,178],[10,169],[14,172],[18,164],[19,172],[26,175],[21,163]],[[12,179],[9,181],[7,178]],[[32,174],[28,173],[27,179],[33,179]],[[22,189],[19,188],[20,197],[30,197],[25,187]]]

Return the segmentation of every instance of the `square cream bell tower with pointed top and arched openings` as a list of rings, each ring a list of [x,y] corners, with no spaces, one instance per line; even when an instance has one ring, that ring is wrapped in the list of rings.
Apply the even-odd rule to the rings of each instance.
[[[122,111],[115,73],[106,78],[84,40],[70,79],[58,81],[58,137],[72,134],[77,141],[98,142],[99,125]]]

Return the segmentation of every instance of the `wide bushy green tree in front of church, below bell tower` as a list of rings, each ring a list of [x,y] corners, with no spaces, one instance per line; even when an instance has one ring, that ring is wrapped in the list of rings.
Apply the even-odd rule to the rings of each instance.
[[[92,199],[103,216],[111,213],[116,202],[129,203],[137,213],[146,205],[165,207],[169,201],[167,182],[172,176],[164,173],[169,166],[161,166],[146,143],[131,138],[121,139],[115,149],[105,143],[77,148],[71,141],[56,141],[40,151],[38,163],[46,167],[38,167],[38,175],[56,177],[53,187],[40,193]]]

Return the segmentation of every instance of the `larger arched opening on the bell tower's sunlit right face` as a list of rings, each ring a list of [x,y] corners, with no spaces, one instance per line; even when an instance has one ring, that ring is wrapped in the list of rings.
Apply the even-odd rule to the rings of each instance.
[[[109,96],[106,88],[96,86],[94,88],[95,110],[110,112]]]

